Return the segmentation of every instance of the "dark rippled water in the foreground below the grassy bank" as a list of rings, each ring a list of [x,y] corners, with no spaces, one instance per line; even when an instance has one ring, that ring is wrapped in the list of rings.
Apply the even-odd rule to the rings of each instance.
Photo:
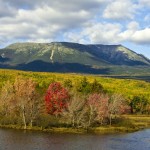
[[[150,129],[105,135],[0,129],[0,150],[150,150]]]

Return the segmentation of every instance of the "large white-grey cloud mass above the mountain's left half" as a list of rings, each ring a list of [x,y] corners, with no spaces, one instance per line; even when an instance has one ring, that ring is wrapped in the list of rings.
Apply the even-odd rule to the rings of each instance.
[[[47,6],[34,10],[19,9],[14,18],[0,20],[0,37],[8,39],[55,39],[64,30],[76,28],[91,17],[89,12],[60,12]]]

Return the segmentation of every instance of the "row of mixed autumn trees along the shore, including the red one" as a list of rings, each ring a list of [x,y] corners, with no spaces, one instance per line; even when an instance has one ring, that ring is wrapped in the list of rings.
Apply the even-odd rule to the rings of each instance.
[[[31,78],[17,77],[13,83],[5,82],[0,94],[0,124],[24,129],[112,125],[128,113],[150,113],[149,101],[140,96],[128,101],[86,77],[75,85],[70,79],[52,81],[44,92]]]

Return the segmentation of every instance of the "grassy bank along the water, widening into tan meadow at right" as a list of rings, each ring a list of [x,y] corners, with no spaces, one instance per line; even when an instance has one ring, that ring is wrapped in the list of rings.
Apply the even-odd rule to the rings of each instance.
[[[12,128],[12,129],[23,129],[17,125],[0,125],[1,128]],[[92,127],[88,129],[82,128],[66,128],[66,127],[50,127],[42,129],[41,127],[27,127],[27,130],[36,130],[43,132],[54,132],[54,133],[96,133],[96,134],[110,134],[110,133],[126,133],[134,132],[141,129],[150,128],[150,115],[123,115],[122,121],[113,125],[105,125],[99,127]]]

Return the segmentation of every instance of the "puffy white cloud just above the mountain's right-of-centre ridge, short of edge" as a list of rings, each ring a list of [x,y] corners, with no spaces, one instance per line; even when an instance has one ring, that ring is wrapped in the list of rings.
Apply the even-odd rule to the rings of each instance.
[[[78,40],[82,41],[81,43],[88,41],[90,43],[112,44],[120,41],[118,36],[120,31],[120,24],[91,23],[88,24],[80,34],[68,33],[65,34],[65,37],[73,42]]]

